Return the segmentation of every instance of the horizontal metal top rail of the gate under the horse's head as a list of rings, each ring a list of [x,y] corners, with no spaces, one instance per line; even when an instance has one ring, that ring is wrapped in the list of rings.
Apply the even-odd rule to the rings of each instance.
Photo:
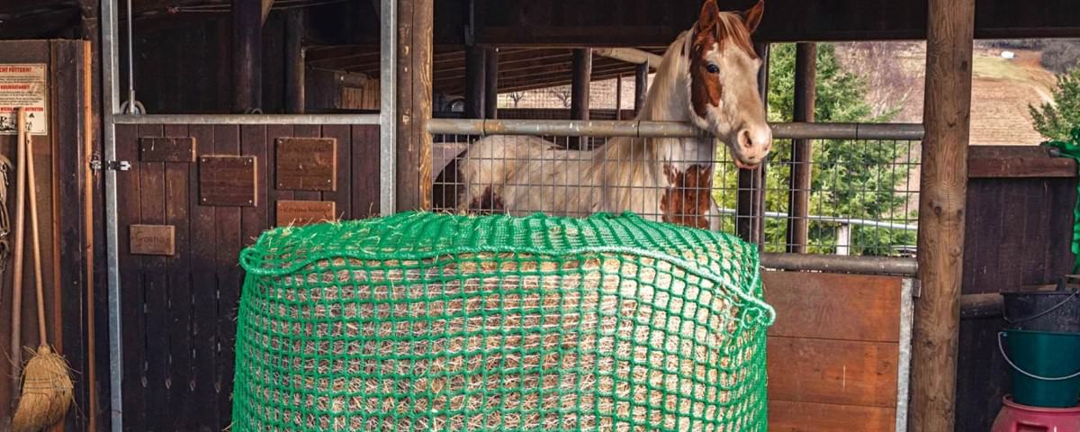
[[[779,139],[921,140],[921,123],[770,123]],[[442,135],[557,135],[692,138],[705,136],[686,122],[644,120],[431,119],[428,132]]]

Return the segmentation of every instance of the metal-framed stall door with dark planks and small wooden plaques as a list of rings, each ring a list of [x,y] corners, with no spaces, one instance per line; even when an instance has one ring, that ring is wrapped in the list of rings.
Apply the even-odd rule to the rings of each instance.
[[[111,430],[225,430],[241,248],[394,212],[396,1],[381,1],[378,114],[133,113],[117,3],[102,2]]]

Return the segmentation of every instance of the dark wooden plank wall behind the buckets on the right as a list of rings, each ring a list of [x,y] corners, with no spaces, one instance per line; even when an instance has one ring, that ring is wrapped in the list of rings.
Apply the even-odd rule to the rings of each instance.
[[[1077,166],[1043,149],[971,148],[963,294],[1052,284],[1072,270]],[[1000,316],[962,319],[957,366],[957,431],[989,430],[1010,391],[998,352]]]

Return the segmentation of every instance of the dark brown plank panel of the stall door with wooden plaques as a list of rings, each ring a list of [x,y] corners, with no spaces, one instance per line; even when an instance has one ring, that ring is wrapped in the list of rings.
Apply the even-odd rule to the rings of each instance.
[[[336,190],[279,187],[276,144],[291,137],[336,140]],[[120,174],[118,191],[125,430],[220,431],[229,426],[235,311],[244,275],[240,251],[276,225],[276,205],[283,201],[329,202],[343,219],[378,215],[378,126],[118,126],[118,157],[132,162],[131,171]],[[189,146],[193,152],[185,151]],[[254,181],[233,177],[252,173],[237,157],[254,158],[248,159]],[[136,227],[150,230],[147,239],[157,239],[153,230],[172,235],[174,247],[132,242],[131,235],[141,232],[133,226],[152,226]],[[152,255],[136,254],[143,248]]]

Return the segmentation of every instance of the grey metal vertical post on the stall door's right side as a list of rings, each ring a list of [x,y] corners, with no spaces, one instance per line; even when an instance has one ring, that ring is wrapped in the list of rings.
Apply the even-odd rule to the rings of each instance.
[[[379,214],[397,207],[397,0],[381,0],[379,26]]]

